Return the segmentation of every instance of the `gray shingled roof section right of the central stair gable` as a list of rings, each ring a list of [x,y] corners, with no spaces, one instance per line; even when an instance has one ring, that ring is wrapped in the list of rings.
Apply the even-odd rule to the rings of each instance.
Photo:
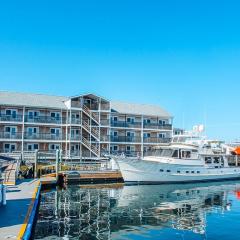
[[[172,117],[166,110],[155,105],[111,101],[111,108],[113,111],[125,114]]]

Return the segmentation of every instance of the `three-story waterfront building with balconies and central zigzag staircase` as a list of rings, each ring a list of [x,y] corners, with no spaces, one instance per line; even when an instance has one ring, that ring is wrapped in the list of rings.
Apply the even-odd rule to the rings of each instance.
[[[158,106],[0,92],[0,152],[55,151],[66,158],[141,155],[172,137],[172,117]]]

